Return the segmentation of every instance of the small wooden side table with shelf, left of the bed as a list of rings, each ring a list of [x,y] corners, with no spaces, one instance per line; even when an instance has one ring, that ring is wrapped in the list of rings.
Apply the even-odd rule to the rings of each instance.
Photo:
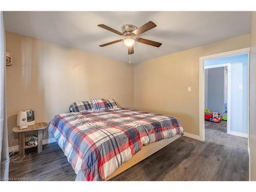
[[[33,145],[28,145],[27,142],[25,142],[25,133],[29,131],[37,131],[37,153],[42,152],[42,131],[47,128],[47,123],[35,123],[33,125],[28,126],[25,129],[19,129],[19,127],[14,127],[12,131],[14,133],[18,133],[18,153],[19,157],[25,156],[25,148],[34,147]]]

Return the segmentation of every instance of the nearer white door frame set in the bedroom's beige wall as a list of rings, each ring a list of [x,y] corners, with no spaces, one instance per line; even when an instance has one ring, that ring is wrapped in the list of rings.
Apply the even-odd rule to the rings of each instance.
[[[213,55],[199,57],[199,129],[200,140],[205,140],[205,127],[204,127],[204,61],[212,58],[226,57],[231,55],[239,55],[249,53],[250,48],[238,49]],[[229,105],[230,106],[230,105]],[[249,133],[249,130],[248,130]]]

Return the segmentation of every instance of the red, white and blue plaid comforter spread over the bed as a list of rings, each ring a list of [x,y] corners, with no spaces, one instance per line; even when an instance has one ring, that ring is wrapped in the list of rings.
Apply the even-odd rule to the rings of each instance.
[[[105,180],[143,145],[183,134],[168,115],[118,108],[56,115],[49,130],[77,174],[76,180]]]

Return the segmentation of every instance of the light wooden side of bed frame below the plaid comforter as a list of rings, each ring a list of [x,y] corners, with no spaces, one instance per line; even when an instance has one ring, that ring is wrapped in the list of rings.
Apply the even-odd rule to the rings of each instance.
[[[126,163],[123,163],[118,169],[115,170],[115,172],[113,174],[111,174],[109,177],[107,177],[106,180],[108,181],[111,178],[117,176],[118,174],[124,172],[124,170],[132,167],[133,165],[137,164],[138,162],[142,161],[143,159],[147,158],[148,156],[151,156],[152,154],[161,150],[161,148],[172,143],[179,137],[181,137],[181,136],[176,135],[172,138],[162,139],[160,141],[143,146],[138,153],[136,153],[129,161],[127,161]]]

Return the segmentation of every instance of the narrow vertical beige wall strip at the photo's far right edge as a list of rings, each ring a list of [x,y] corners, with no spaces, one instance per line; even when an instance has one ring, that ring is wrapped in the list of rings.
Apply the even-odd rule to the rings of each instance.
[[[250,48],[250,180],[256,181],[256,12],[251,14]]]

